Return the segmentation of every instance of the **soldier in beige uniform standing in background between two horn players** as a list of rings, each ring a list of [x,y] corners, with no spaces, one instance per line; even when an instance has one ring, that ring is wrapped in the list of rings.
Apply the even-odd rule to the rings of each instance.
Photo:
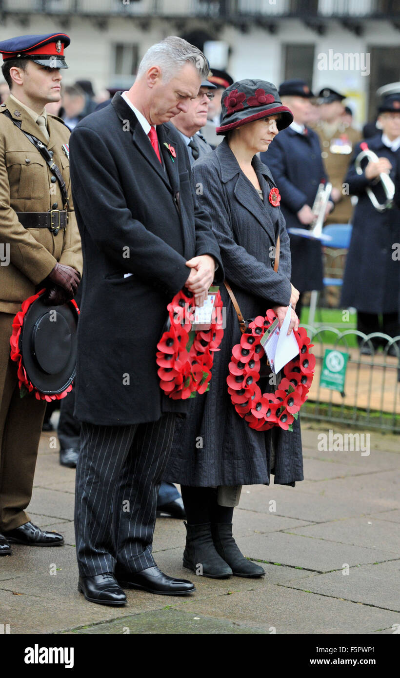
[[[335,203],[334,212],[327,217],[326,224],[347,224],[353,214],[350,195],[343,193],[343,182],[353,148],[361,141],[361,133],[342,120],[344,98],[329,87],[321,89],[317,98],[320,117],[314,129],[321,143],[321,156],[332,183],[331,197]]]

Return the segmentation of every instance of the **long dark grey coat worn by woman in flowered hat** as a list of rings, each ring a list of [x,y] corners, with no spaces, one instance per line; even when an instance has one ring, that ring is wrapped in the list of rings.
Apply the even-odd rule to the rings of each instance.
[[[291,296],[289,238],[279,207],[268,201],[275,182],[254,156],[261,201],[241,171],[226,140],[193,165],[199,201],[212,217],[226,279],[231,284],[245,319],[265,315],[276,304],[289,304]],[[281,238],[279,271],[273,271],[270,248]],[[240,342],[237,315],[224,285],[226,327],[220,351],[214,353],[210,389],[191,400],[191,411],[178,420],[169,469],[165,479],[184,485],[252,485],[270,482],[271,445],[275,483],[294,485],[303,479],[300,422],[294,431],[258,432],[239,417],[228,394],[226,377],[232,348]],[[266,388],[275,390],[274,386]]]

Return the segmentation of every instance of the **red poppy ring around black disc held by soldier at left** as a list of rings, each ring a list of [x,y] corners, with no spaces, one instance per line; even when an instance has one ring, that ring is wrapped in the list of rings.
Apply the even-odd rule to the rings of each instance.
[[[37,400],[46,400],[48,403],[51,402],[52,400],[61,400],[62,398],[66,397],[66,394],[72,391],[73,384],[70,384],[62,393],[54,393],[52,395],[48,395],[47,393],[41,393],[41,391],[38,391],[36,386],[33,386],[32,382],[28,379],[28,375],[26,374],[26,370],[24,368],[24,365],[22,363],[22,355],[20,353],[20,336],[21,336],[21,330],[22,330],[22,325],[24,324],[24,317],[26,313],[28,312],[28,308],[33,304],[34,301],[36,301],[41,294],[45,292],[45,288],[43,287],[43,290],[40,290],[37,294],[34,294],[31,297],[28,297],[28,299],[25,299],[24,302],[21,304],[21,310],[18,311],[16,316],[14,317],[14,320],[12,321],[12,335],[9,338],[9,343],[11,346],[11,359],[14,361],[14,363],[18,363],[18,369],[17,369],[17,375],[18,375],[18,386],[20,387],[20,395],[21,397],[24,397],[26,393],[35,393],[35,398]],[[73,304],[75,308],[77,309],[77,313],[79,313],[79,308],[76,304],[76,302],[71,299],[70,304]]]

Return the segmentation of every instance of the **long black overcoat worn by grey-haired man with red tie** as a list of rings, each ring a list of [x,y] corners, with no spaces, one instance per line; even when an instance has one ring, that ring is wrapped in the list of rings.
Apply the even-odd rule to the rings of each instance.
[[[75,415],[92,424],[151,422],[187,403],[163,395],[157,342],[167,304],[188,278],[186,260],[211,254],[178,133],[157,125],[165,170],[120,93],[71,135],[71,178],[83,250]],[[173,146],[173,158],[165,144]],[[125,273],[132,276],[124,277]]]

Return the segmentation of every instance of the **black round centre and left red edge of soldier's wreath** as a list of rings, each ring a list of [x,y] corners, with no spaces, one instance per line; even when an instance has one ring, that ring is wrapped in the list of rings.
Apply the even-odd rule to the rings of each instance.
[[[18,377],[29,391],[57,395],[75,378],[79,311],[74,301],[45,306],[44,292],[23,302],[14,318],[12,360],[18,361]]]

